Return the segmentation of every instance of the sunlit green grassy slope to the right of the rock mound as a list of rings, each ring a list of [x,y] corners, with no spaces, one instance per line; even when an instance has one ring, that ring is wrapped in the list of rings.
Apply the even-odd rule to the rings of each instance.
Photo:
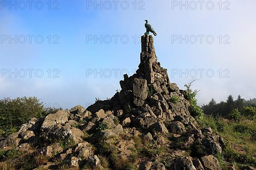
[[[236,115],[237,109],[232,113]],[[225,141],[225,149],[221,154],[216,155],[225,169],[227,162],[236,164],[238,169],[246,166],[256,167],[256,121],[248,119],[225,119],[221,116],[205,115],[200,121],[202,127],[211,127],[216,133],[219,133]]]

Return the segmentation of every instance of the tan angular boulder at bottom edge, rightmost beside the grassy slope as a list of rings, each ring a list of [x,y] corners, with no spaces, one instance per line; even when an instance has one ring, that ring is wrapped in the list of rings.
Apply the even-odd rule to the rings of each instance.
[[[209,156],[203,156],[201,158],[201,162],[204,165],[205,168],[209,170],[221,170],[220,163],[217,158],[215,158],[212,155]]]

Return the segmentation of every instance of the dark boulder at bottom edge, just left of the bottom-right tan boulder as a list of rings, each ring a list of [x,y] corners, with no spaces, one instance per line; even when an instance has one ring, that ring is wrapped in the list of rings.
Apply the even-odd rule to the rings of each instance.
[[[189,157],[175,159],[171,170],[197,170]]]

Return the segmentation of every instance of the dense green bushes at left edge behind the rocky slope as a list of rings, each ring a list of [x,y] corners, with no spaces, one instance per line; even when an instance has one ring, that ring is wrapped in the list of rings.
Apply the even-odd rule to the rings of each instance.
[[[41,118],[57,110],[45,107],[36,97],[4,98],[0,100],[0,136],[16,132],[33,117]]]

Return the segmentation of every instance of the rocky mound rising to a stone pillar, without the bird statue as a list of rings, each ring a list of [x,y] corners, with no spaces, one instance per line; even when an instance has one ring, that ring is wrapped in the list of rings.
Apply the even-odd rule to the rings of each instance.
[[[35,169],[219,170],[212,155],[222,152],[223,139],[198,127],[186,91],[157,61],[153,37],[141,42],[138,70],[124,75],[111,99],[33,118],[0,139],[0,148],[45,156]]]

